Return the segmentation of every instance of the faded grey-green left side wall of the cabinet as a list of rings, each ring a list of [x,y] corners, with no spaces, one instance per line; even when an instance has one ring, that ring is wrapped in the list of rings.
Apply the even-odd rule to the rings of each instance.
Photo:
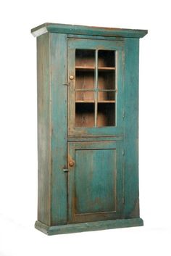
[[[38,220],[50,224],[49,34],[37,38]]]

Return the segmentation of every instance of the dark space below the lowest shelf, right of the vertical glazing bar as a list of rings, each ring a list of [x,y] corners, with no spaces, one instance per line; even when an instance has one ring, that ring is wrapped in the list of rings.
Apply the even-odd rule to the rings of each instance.
[[[98,103],[97,126],[115,125],[115,104]]]

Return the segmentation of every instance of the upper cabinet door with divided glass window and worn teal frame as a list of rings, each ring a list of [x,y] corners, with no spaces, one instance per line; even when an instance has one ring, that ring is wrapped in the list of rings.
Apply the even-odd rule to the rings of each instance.
[[[69,135],[121,133],[117,117],[122,112],[120,43],[112,46],[116,41],[101,41],[99,46],[96,40],[69,40]]]

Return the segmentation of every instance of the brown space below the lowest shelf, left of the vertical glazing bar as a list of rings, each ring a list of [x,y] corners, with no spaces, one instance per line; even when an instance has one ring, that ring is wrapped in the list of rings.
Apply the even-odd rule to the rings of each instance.
[[[76,103],[75,104],[75,127],[94,126],[94,104]]]

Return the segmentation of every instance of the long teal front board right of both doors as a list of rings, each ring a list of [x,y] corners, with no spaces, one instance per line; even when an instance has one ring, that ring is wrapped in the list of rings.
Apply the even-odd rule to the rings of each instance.
[[[139,217],[138,55],[139,40],[125,38],[125,218]]]

